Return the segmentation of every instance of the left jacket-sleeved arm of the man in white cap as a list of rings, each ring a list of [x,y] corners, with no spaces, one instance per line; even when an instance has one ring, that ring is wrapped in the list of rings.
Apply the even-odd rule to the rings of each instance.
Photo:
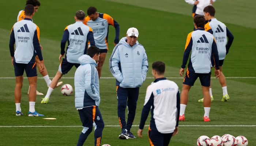
[[[120,54],[118,46],[121,44],[117,44],[112,52],[112,55],[109,59],[109,69],[112,75],[116,78],[118,82],[121,82],[123,80],[123,74],[121,73],[119,69],[119,63],[120,63]]]

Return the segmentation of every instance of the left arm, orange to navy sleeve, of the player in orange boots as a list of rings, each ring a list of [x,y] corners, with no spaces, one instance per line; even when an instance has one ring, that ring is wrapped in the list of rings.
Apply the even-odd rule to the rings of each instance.
[[[193,40],[192,40],[191,34],[192,34],[192,32],[190,32],[188,34],[186,45],[185,45],[185,50],[184,50],[184,54],[183,54],[183,61],[182,61],[181,69],[180,69],[180,76],[181,77],[184,74],[184,70],[185,70],[185,67],[186,67],[186,64],[187,64],[187,61],[188,61],[188,58],[189,58],[189,54],[190,54],[190,51],[192,50]]]

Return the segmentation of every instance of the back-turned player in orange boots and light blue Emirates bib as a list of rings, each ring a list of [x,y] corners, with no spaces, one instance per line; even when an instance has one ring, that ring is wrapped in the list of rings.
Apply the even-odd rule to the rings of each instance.
[[[189,54],[191,56],[188,63],[187,72],[185,74],[181,92],[180,101],[180,121],[185,120],[185,108],[188,103],[188,92],[191,86],[194,85],[196,79],[199,77],[202,91],[204,95],[204,121],[208,122],[211,108],[211,97],[209,92],[211,81],[211,54],[215,60],[215,75],[219,77],[219,55],[217,45],[212,34],[204,31],[205,19],[204,16],[198,15],[194,17],[195,31],[188,34],[185,51],[183,55],[183,62],[180,69],[180,76],[184,74]]]

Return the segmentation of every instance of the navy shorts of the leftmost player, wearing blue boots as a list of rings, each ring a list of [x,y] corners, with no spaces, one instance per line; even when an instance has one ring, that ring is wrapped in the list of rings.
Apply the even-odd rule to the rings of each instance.
[[[14,73],[15,76],[22,76],[24,73],[24,70],[26,71],[27,77],[34,77],[37,76],[37,65],[34,64],[19,64],[16,62],[13,62],[14,65]]]

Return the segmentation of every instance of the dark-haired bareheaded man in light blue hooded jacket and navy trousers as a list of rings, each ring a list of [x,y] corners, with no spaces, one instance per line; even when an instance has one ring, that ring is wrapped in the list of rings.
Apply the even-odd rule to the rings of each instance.
[[[78,58],[80,66],[75,72],[75,107],[83,123],[83,130],[79,136],[77,146],[82,146],[88,135],[93,130],[94,144],[101,145],[104,122],[99,111],[99,77],[95,68],[99,61],[100,49],[91,46],[87,55]]]

